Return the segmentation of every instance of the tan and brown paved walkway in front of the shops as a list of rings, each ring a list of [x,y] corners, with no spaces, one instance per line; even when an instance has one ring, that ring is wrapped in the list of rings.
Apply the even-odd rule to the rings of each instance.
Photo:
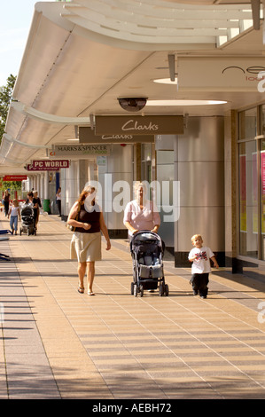
[[[3,213],[0,223],[9,228]],[[41,216],[36,236],[8,236],[0,399],[265,398],[265,279],[214,271],[202,300],[191,270],[165,261],[169,296],[135,297],[127,243],[113,240],[96,295],[81,295],[58,216]]]

